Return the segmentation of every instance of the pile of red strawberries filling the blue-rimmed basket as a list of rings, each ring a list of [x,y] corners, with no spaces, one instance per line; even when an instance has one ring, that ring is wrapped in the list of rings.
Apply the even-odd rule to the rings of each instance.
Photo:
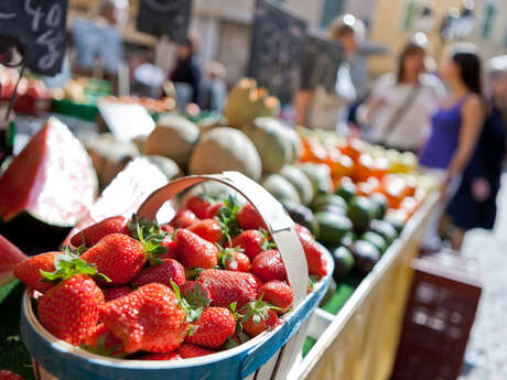
[[[296,228],[309,271],[326,274],[312,235]],[[20,263],[41,324],[95,354],[173,360],[240,345],[292,305],[280,252],[251,205],[191,196],[166,225],[110,217],[64,252]]]

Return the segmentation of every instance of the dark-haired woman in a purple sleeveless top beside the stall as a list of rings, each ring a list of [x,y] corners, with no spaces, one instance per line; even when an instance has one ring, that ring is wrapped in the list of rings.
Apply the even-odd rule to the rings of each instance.
[[[475,150],[483,123],[481,59],[471,45],[455,45],[441,75],[450,96],[432,117],[432,130],[420,155],[423,170],[441,181],[442,200],[430,218],[424,248],[439,249],[439,222]]]

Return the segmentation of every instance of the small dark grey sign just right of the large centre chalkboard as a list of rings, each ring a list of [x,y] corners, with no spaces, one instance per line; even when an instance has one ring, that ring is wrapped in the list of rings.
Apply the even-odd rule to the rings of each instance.
[[[309,33],[302,65],[302,87],[325,87],[335,93],[336,74],[345,56],[339,43],[326,39],[319,32]]]

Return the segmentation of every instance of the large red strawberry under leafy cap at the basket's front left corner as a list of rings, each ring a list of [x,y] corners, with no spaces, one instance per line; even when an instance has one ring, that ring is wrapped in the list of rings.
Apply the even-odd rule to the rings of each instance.
[[[54,336],[79,345],[97,325],[104,294],[94,280],[75,274],[46,291],[39,302],[41,324]]]

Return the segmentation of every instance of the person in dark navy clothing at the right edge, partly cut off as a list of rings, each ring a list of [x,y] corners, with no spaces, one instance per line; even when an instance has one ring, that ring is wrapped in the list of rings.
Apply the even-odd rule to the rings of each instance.
[[[501,107],[507,96],[507,67],[489,67],[486,122],[460,188],[447,208],[454,226],[451,241],[455,250],[461,249],[467,230],[493,229],[496,219],[496,196],[500,188],[506,142]]]

